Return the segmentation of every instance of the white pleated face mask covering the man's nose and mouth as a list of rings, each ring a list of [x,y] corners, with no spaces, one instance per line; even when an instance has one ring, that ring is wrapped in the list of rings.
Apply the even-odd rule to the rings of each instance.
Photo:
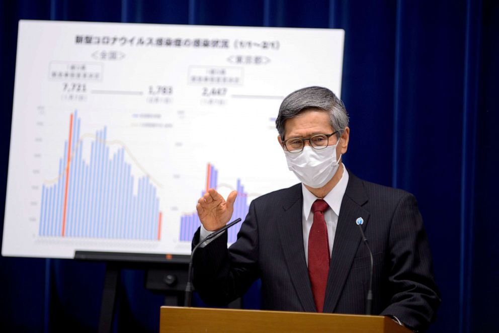
[[[303,184],[314,189],[321,188],[331,180],[332,176],[335,176],[340,165],[342,154],[338,160],[336,159],[338,142],[324,149],[305,146],[299,153],[284,151],[289,170],[294,172]]]

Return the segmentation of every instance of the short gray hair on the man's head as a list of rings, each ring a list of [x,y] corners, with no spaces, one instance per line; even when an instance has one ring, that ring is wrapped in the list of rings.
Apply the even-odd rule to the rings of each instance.
[[[276,128],[281,138],[284,137],[284,122],[294,118],[306,109],[320,109],[329,114],[331,127],[338,131],[340,138],[348,126],[348,113],[343,102],[327,88],[307,87],[289,94],[281,103]]]

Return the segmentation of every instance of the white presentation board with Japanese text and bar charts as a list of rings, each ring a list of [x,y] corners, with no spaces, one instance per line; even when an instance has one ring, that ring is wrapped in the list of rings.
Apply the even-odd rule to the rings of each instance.
[[[2,255],[189,255],[207,188],[298,181],[286,95],[340,96],[344,31],[20,21]],[[240,224],[230,229],[235,241]]]

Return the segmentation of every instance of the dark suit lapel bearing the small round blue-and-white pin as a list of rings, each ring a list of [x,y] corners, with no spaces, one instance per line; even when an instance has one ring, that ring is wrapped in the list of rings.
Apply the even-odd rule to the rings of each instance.
[[[362,238],[355,221],[358,217],[362,217],[364,229],[369,221],[369,212],[362,208],[366,202],[367,195],[362,181],[349,172],[349,181],[338,217],[335,243],[329,264],[324,312],[335,310],[350,273],[350,267]]]

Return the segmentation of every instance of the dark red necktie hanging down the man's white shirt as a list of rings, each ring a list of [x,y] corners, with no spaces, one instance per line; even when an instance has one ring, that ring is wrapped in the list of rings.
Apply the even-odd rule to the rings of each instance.
[[[312,205],[313,223],[308,235],[308,276],[317,312],[322,312],[329,272],[329,240],[324,211],[329,207],[322,199]]]

